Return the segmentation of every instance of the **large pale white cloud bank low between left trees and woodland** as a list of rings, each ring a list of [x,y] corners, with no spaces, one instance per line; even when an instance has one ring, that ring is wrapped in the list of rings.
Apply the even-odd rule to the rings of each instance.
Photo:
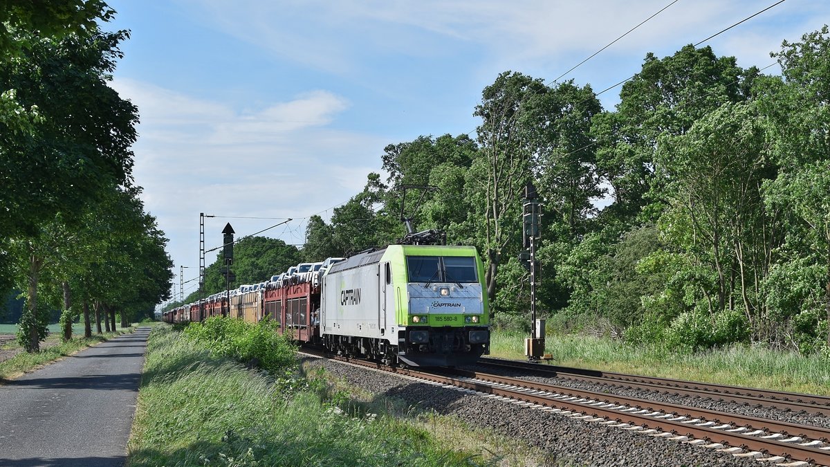
[[[146,208],[170,238],[176,264],[195,262],[198,213],[307,217],[357,194],[366,175],[378,170],[385,144],[329,128],[348,101],[328,91],[242,113],[144,82],[118,80],[113,86],[139,107],[134,177],[144,186]],[[276,222],[234,225],[242,235]],[[287,242],[301,243],[299,222],[266,235],[282,232]]]

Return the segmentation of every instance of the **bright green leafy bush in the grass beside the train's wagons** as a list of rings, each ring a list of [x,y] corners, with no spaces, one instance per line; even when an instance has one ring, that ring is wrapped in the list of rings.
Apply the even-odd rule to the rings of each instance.
[[[228,356],[271,373],[284,372],[296,362],[296,346],[269,319],[252,324],[230,317],[209,317],[203,323],[190,323],[183,336],[207,347],[212,356]]]

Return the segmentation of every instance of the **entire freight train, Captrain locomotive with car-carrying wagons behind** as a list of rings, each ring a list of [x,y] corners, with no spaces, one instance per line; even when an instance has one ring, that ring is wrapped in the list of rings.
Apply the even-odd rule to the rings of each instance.
[[[413,234],[414,244],[300,264],[165,312],[164,321],[268,317],[296,341],[339,355],[408,366],[474,362],[490,353],[481,257],[470,246],[417,242],[434,237],[425,233]]]

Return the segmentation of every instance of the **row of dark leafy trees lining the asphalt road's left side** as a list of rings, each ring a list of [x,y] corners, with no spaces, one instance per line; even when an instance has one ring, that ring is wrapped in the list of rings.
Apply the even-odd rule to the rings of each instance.
[[[122,327],[168,298],[167,238],[132,178],[136,107],[109,86],[125,31],[99,0],[4,2],[0,12],[0,291],[22,291],[18,340]],[[94,314],[94,320],[91,315]]]

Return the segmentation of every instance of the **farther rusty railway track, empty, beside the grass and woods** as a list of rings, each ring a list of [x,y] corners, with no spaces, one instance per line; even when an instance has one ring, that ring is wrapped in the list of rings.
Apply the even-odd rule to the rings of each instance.
[[[778,410],[793,410],[805,414],[830,416],[830,397],[827,396],[627,375],[612,371],[585,370],[496,358],[481,358],[479,365],[514,371],[532,371],[534,375],[556,377],[569,381],[622,386],[678,396],[710,398],[715,401],[728,401],[740,405],[763,406]]]

